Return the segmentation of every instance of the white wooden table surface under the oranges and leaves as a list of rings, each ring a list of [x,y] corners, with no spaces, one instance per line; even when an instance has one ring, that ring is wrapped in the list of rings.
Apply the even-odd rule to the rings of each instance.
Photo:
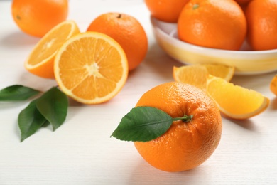
[[[129,74],[123,90],[102,105],[70,102],[65,123],[20,142],[18,113],[25,102],[0,102],[0,184],[277,184],[277,98],[269,90],[275,73],[235,76],[233,83],[271,99],[268,109],[249,120],[223,118],[222,140],[201,166],[168,173],[148,165],[131,142],[110,138],[121,117],[154,86],[173,81],[173,65],[153,38],[149,12],[139,0],[70,0],[69,19],[81,31],[99,14],[118,11],[135,16],[146,29],[149,49],[143,63]],[[38,38],[17,28],[11,1],[0,1],[0,88],[21,84],[48,90],[55,80],[28,73],[23,62]],[[276,61],[277,62],[277,61]]]

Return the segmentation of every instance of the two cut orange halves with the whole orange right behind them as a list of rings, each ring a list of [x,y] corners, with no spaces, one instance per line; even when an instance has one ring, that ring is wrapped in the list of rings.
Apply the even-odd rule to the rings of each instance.
[[[119,93],[147,50],[146,33],[136,18],[106,13],[84,33],[75,21],[51,28],[31,51],[25,67],[42,78],[55,78],[72,99],[98,104]]]

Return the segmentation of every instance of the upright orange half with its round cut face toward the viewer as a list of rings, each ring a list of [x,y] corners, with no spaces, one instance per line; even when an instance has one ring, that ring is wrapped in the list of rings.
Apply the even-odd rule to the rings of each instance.
[[[97,32],[79,33],[59,49],[55,79],[63,92],[84,104],[114,97],[128,77],[126,55],[113,38]]]

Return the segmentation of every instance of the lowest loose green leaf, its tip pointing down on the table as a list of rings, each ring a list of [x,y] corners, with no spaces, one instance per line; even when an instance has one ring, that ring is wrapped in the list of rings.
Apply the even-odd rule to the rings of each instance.
[[[33,100],[18,115],[18,126],[21,131],[21,142],[34,134],[47,120],[36,108],[36,100]]]

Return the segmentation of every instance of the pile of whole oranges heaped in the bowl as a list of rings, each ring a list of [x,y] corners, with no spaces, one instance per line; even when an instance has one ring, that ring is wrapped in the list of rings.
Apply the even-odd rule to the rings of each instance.
[[[277,0],[146,0],[151,15],[177,23],[181,41],[237,51],[277,48]],[[170,14],[170,16],[168,16]]]

